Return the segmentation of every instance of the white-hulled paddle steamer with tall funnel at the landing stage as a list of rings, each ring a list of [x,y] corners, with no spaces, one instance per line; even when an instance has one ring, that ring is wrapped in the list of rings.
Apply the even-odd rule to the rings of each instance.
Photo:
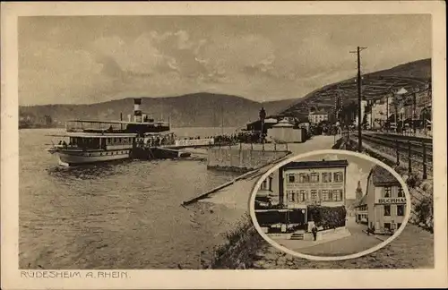
[[[173,143],[169,121],[143,114],[141,104],[142,98],[134,98],[134,115],[128,115],[128,121],[68,121],[64,133],[50,135],[62,140],[47,151],[57,156],[59,165],[77,166],[132,158],[133,149],[150,142],[155,146]]]

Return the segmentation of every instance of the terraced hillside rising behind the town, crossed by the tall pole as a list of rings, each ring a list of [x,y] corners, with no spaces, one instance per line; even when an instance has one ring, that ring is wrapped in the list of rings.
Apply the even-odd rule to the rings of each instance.
[[[431,81],[431,59],[401,64],[391,69],[364,74],[363,97],[367,100],[382,98],[390,90],[399,90],[402,87],[410,90],[424,86],[426,81]],[[356,101],[358,98],[357,88],[356,78],[332,83],[322,89],[312,91],[304,98],[299,98],[295,104],[281,113],[303,116],[307,115],[309,108],[312,107],[328,111],[334,107],[338,95],[343,104]]]

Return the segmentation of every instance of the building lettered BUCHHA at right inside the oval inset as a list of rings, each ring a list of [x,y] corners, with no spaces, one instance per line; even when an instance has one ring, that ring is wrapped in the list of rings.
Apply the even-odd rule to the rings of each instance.
[[[406,195],[401,183],[383,166],[375,166],[367,177],[366,200],[362,200],[358,209],[358,214],[367,210],[366,222],[375,234],[393,234],[406,213]]]

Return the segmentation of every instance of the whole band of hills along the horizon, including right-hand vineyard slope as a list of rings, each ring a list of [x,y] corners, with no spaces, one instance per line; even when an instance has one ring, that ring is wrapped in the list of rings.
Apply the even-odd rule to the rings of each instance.
[[[401,64],[391,69],[363,76],[363,95],[366,99],[379,98],[391,88],[415,88],[431,80],[431,59]],[[268,115],[307,115],[310,107],[328,109],[340,94],[344,103],[356,100],[356,79],[332,83],[307,94],[303,98],[259,103],[246,98],[207,92],[169,98],[142,98],[143,112],[156,119],[170,117],[174,127],[240,127],[258,119],[261,107]],[[138,96],[133,96],[138,97]],[[92,105],[44,105],[19,107],[20,127],[64,125],[72,119],[119,120],[133,112],[133,98],[111,100]]]

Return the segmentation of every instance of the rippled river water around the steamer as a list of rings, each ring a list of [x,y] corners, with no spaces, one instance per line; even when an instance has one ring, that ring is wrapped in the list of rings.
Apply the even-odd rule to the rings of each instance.
[[[45,151],[54,129],[20,131],[21,269],[197,269],[217,243],[211,226],[180,206],[236,174],[201,160],[57,166]],[[221,129],[185,128],[179,136]],[[224,132],[235,132],[225,128]],[[207,217],[206,215],[204,217]]]

